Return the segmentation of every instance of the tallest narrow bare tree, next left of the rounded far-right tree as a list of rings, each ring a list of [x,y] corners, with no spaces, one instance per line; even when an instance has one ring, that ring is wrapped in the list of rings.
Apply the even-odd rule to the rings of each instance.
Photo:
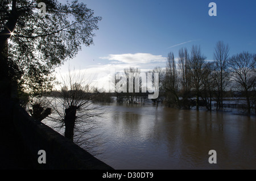
[[[229,82],[228,74],[228,57],[229,57],[229,46],[225,45],[222,41],[216,43],[214,49],[214,64],[216,66],[216,75],[218,79],[216,80],[216,85],[218,87],[217,94],[217,109],[218,106],[223,108],[223,94],[226,86]]]

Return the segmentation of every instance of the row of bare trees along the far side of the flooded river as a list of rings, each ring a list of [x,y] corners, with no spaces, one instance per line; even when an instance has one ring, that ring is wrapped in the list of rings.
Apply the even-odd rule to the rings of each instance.
[[[216,43],[213,61],[207,61],[198,45],[192,45],[190,53],[187,48],[181,48],[177,58],[173,52],[168,53],[166,68],[156,67],[150,71],[153,73],[153,82],[154,73],[159,74],[159,98],[152,101],[156,105],[164,102],[166,106],[175,108],[190,109],[195,106],[196,110],[200,106],[213,110],[212,104],[215,102],[215,109],[218,111],[224,108],[227,97],[238,92],[245,99],[245,110],[250,114],[251,111],[256,111],[255,68],[256,54],[243,51],[229,56],[229,45],[223,41]],[[141,70],[129,68],[124,69],[124,72],[125,75],[139,74]],[[133,87],[135,81],[134,77]],[[127,87],[129,83],[127,78]],[[139,83],[141,84],[141,79]],[[142,93],[141,88],[140,93],[126,91],[112,95],[119,102],[138,103],[146,100],[148,95],[148,92]]]

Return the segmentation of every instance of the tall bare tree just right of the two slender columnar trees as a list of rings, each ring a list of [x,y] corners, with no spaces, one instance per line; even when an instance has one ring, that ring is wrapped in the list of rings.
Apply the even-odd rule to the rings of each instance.
[[[196,110],[199,110],[200,91],[203,86],[204,64],[206,57],[201,54],[200,46],[192,46],[191,58],[189,58],[189,76],[191,77],[191,86],[196,94]]]

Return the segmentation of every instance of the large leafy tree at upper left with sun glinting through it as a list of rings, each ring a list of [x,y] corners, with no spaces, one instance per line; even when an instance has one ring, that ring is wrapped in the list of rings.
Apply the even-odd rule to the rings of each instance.
[[[46,5],[44,16],[38,13],[39,2]],[[99,20],[78,1],[1,0],[0,81],[18,82],[20,90],[32,94],[51,88],[55,68],[73,58],[82,44],[93,44]]]

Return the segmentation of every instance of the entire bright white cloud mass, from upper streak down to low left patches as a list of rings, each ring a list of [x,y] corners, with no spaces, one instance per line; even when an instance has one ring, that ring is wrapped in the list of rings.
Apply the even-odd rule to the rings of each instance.
[[[107,57],[100,57],[109,60],[107,64],[94,64],[87,66],[86,69],[71,70],[71,74],[83,75],[82,83],[89,84],[91,87],[108,87],[110,77],[115,73],[122,73],[124,69],[133,67],[141,72],[148,72],[156,66],[164,67],[166,57],[162,55],[153,55],[150,53],[127,53],[127,54],[109,54]],[[57,80],[62,82],[61,77],[67,77],[68,71],[57,73]]]

